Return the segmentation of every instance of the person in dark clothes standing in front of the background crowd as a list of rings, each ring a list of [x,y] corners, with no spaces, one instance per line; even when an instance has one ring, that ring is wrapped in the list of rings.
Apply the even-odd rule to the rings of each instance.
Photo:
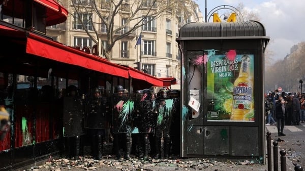
[[[278,136],[286,136],[283,133],[284,125],[285,125],[285,114],[287,112],[286,102],[279,96],[279,100],[276,101],[276,117],[277,117],[277,127],[278,127]]]

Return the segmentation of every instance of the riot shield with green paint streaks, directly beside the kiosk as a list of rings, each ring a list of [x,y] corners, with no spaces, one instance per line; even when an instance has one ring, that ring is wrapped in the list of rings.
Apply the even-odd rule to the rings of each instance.
[[[156,105],[158,108],[157,123],[156,123],[156,136],[161,137],[162,133],[169,134],[172,122],[173,113],[179,103],[179,98],[173,99],[157,99]]]

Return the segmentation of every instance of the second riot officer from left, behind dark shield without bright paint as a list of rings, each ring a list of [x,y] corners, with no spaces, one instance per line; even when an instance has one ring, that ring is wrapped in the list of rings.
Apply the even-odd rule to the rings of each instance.
[[[88,130],[91,139],[92,155],[99,160],[102,158],[103,153],[105,129],[109,128],[108,101],[107,97],[102,98],[101,90],[95,88],[86,102],[85,128]]]

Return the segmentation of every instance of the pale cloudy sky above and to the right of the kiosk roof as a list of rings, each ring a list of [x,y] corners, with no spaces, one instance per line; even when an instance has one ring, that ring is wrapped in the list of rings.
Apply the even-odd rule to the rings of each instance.
[[[194,2],[204,16],[205,0]],[[218,6],[237,7],[239,3],[260,17],[266,36],[270,37],[267,48],[275,53],[273,59],[284,59],[293,45],[305,41],[305,0],[206,0],[207,13]]]

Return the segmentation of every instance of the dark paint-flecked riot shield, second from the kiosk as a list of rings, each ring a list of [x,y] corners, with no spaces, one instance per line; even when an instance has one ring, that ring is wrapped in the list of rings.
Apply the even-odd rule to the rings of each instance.
[[[132,110],[133,132],[151,133],[155,131],[157,112],[153,93],[136,93]]]

